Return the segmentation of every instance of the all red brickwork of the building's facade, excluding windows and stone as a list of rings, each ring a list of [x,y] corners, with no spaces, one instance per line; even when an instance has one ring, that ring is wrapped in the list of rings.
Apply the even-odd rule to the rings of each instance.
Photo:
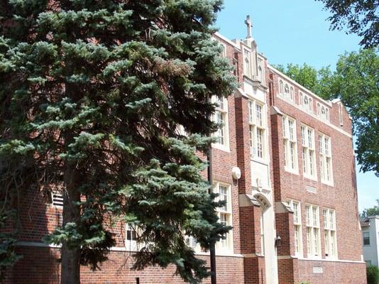
[[[235,45],[219,38],[226,45],[226,55],[230,62],[237,61],[238,82],[243,82],[243,60]],[[234,60],[233,60],[234,58]],[[307,256],[305,204],[319,205],[320,235],[322,258],[324,258],[324,229],[322,209],[325,207],[336,210],[336,235],[339,260],[356,261],[309,261],[291,258],[295,253],[293,217],[290,212],[275,214],[275,228],[282,241],[278,246],[278,274],[280,284],[309,281],[310,283],[366,283],[366,271],[361,261],[361,232],[358,230],[358,207],[356,195],[355,165],[351,138],[337,131],[351,133],[351,119],[343,108],[343,126],[339,123],[338,102],[331,104],[331,127],[319,119],[297,109],[276,97],[278,89],[278,74],[267,67],[265,61],[266,82],[270,83],[273,92],[267,92],[268,111],[268,148],[270,149],[270,181],[273,188],[274,202],[299,200],[302,209],[302,241],[303,256]],[[298,87],[295,87],[295,100],[299,102]],[[243,87],[243,86],[241,86]],[[314,110],[317,110],[317,97],[313,97]],[[321,102],[321,101],[320,101]],[[283,143],[282,143],[282,116],[272,114],[275,106],[283,113],[297,120],[297,153],[299,173],[294,175],[284,170]],[[248,99],[236,95],[228,98],[229,117],[229,150],[222,151],[213,148],[213,175],[214,180],[231,185],[232,222],[234,237],[234,256],[217,256],[217,283],[265,283],[265,258],[260,256],[260,207],[239,207],[240,194],[251,193],[251,160],[248,129]],[[315,130],[317,180],[309,180],[302,175],[301,134],[300,124],[312,126]],[[334,186],[320,182],[319,149],[317,134],[322,132],[331,137],[331,151],[333,156]],[[204,155],[201,155],[205,158]],[[231,169],[238,166],[241,169],[240,180],[231,178]],[[207,173],[204,172],[204,178]],[[307,192],[307,185],[317,188],[317,193]],[[21,204],[21,235],[19,241],[40,240],[53,231],[60,224],[61,212],[45,203],[41,192],[30,190]],[[275,209],[275,208],[274,208]],[[118,246],[123,247],[125,236],[121,222],[115,227]],[[13,271],[9,272],[6,283],[59,283],[60,266],[57,262],[58,249],[43,247],[20,246],[18,251],[23,254]],[[239,253],[242,253],[242,257]],[[199,256],[207,259],[208,256]],[[133,258],[128,252],[112,251],[109,261],[101,266],[101,271],[92,272],[89,268],[82,268],[82,283],[136,283],[140,277],[142,283],[182,283],[179,277],[173,275],[175,267],[166,269],[147,268],[145,271],[130,271]],[[313,273],[313,267],[323,268],[323,273]],[[353,271],[353,273],[351,273]],[[209,283],[209,279],[204,283]]]

